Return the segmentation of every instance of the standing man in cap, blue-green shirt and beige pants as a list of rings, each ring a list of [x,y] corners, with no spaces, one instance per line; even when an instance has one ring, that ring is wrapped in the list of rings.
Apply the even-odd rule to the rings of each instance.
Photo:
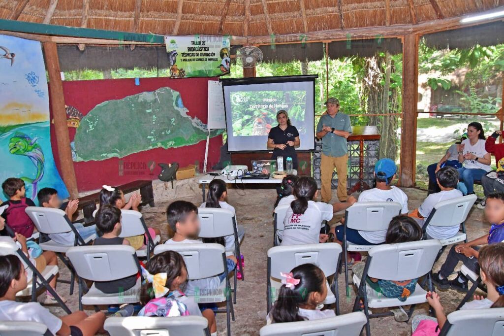
[[[348,173],[348,148],[346,139],[352,133],[350,117],[340,113],[340,102],[336,98],[326,101],[327,113],[324,114],[317,125],[317,138],[322,139],[322,201],[331,201],[331,180],[336,168],[338,175],[338,199],[340,202],[347,200],[347,173]]]

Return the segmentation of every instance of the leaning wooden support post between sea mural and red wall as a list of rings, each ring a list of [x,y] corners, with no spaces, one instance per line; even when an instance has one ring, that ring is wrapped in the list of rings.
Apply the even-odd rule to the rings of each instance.
[[[63,96],[63,83],[59,69],[58,52],[56,43],[43,42],[45,54],[45,67],[49,74],[50,104],[52,118],[54,120],[54,130],[56,133],[56,144],[58,146],[59,166],[61,177],[67,186],[70,197],[79,197],[77,190],[77,180],[75,177],[74,161],[72,160],[72,150],[70,149],[70,135],[67,126],[67,112],[65,110],[65,98]]]

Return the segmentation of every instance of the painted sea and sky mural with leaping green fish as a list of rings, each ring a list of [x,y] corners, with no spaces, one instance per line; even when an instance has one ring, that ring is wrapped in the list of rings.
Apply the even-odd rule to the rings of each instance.
[[[0,182],[23,179],[35,203],[44,187],[69,195],[52,156],[48,99],[40,42],[0,35]]]

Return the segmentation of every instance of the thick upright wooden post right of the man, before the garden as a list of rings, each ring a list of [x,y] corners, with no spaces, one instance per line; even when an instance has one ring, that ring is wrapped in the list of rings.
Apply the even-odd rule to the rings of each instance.
[[[416,166],[416,122],[418,100],[418,35],[403,40],[403,116],[401,126],[401,187],[413,187]]]

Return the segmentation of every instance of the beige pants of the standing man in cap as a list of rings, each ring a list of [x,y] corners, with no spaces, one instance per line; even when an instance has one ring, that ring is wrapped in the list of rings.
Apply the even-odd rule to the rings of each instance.
[[[336,168],[338,175],[338,199],[340,201],[347,200],[346,180],[348,174],[348,154],[334,157],[322,154],[322,162],[320,164],[320,173],[322,181],[322,201],[329,203],[331,201],[331,180],[333,172]]]

